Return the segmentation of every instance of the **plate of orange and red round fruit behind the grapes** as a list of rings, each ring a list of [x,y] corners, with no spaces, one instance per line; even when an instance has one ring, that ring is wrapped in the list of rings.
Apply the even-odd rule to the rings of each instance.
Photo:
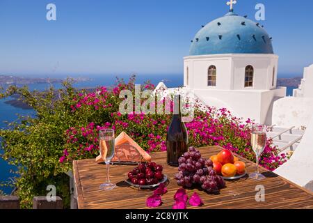
[[[246,164],[235,157],[231,151],[223,149],[218,155],[210,157],[213,169],[224,180],[237,180],[246,176]]]

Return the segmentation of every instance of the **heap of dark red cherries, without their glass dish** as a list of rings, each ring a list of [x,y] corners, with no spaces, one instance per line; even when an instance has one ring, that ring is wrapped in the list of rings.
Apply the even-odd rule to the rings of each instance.
[[[163,167],[155,162],[141,163],[128,173],[128,178],[134,185],[155,185],[163,180],[164,175],[162,171]]]

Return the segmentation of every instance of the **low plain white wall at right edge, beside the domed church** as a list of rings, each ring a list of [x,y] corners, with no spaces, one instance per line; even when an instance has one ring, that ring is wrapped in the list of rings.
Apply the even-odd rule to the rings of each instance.
[[[313,118],[313,98],[286,97],[274,102],[273,124],[281,127],[307,126]]]

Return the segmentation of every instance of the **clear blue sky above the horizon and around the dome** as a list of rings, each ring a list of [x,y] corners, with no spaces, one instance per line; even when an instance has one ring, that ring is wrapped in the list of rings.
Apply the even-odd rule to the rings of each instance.
[[[57,20],[46,20],[55,3]],[[313,1],[238,0],[255,20],[264,3],[280,75],[313,63]],[[191,39],[226,0],[0,0],[0,74],[180,74]]]

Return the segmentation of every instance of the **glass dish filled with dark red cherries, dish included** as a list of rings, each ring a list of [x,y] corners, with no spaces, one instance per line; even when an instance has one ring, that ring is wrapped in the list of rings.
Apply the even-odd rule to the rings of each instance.
[[[166,183],[168,177],[163,174],[163,167],[155,162],[140,163],[126,174],[125,182],[133,187],[151,189]]]

